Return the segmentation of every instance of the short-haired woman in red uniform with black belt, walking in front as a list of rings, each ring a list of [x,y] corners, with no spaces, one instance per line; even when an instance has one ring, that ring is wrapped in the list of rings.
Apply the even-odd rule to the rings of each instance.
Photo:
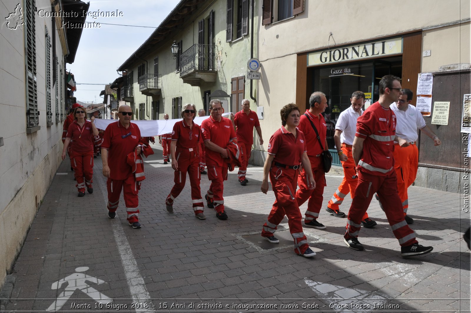
[[[263,225],[261,235],[271,243],[280,242],[273,234],[286,215],[294,240],[294,252],[310,257],[316,253],[309,248],[308,239],[302,231],[302,216],[294,196],[301,163],[308,173],[310,189],[316,188],[316,181],[312,176],[304,134],[296,127],[300,120],[299,107],[290,103],[281,109],[280,114],[282,127],[270,138],[261,186],[262,192],[266,194],[269,174],[276,200],[268,215],[267,222]]]

